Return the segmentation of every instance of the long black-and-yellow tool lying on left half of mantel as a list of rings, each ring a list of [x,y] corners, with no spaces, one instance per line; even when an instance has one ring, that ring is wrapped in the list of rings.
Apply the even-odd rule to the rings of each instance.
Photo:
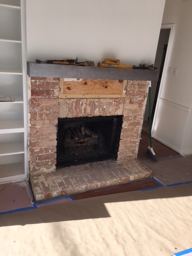
[[[36,59],[37,63],[47,63],[47,64],[60,64],[60,65],[74,65],[74,66],[94,66],[94,61],[85,61],[85,62],[78,62],[78,59],[75,60],[38,60]]]

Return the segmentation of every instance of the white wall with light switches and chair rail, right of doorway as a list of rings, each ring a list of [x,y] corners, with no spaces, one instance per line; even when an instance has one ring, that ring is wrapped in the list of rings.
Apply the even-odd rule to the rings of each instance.
[[[163,24],[174,23],[166,74],[152,136],[180,154],[192,154],[192,1],[166,0]]]

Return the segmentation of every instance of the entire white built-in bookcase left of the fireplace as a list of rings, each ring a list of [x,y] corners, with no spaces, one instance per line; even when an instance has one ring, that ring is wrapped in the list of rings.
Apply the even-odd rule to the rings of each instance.
[[[0,0],[0,183],[26,179],[25,0]]]

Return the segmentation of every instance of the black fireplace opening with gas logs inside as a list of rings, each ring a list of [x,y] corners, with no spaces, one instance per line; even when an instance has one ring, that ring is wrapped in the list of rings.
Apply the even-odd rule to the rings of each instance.
[[[57,168],[117,159],[123,116],[58,118]]]

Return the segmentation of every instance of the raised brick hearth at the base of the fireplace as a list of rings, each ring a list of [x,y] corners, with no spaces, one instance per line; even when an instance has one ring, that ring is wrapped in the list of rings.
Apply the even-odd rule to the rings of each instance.
[[[82,164],[31,176],[36,201],[128,183],[149,178],[150,170],[137,160],[116,160]]]

